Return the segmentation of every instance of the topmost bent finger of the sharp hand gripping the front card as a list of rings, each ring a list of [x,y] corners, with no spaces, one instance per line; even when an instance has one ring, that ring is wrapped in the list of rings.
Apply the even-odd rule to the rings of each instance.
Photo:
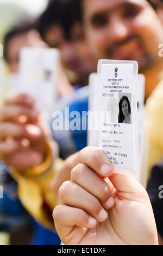
[[[101,176],[109,177],[113,166],[108,156],[97,147],[86,147],[79,153],[79,162],[85,163]]]

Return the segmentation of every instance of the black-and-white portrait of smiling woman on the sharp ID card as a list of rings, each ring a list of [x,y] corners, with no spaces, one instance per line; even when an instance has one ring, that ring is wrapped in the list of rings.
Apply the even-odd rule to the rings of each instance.
[[[118,123],[131,124],[131,108],[128,96],[120,97],[119,108]]]

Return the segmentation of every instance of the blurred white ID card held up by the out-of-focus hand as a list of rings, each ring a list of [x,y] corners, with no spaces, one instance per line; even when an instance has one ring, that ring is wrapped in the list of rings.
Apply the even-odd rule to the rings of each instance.
[[[59,52],[48,48],[22,48],[20,56],[20,90],[32,95],[48,120],[56,99]]]

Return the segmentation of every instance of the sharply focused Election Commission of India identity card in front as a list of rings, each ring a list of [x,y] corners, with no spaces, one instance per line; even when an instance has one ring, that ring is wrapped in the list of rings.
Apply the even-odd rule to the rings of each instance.
[[[100,146],[115,173],[137,176],[137,62],[99,60]]]

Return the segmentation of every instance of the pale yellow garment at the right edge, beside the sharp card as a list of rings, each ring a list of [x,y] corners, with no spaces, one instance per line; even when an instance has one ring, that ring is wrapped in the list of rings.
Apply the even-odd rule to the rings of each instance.
[[[163,159],[163,80],[146,103],[149,112],[148,178],[152,167]]]

